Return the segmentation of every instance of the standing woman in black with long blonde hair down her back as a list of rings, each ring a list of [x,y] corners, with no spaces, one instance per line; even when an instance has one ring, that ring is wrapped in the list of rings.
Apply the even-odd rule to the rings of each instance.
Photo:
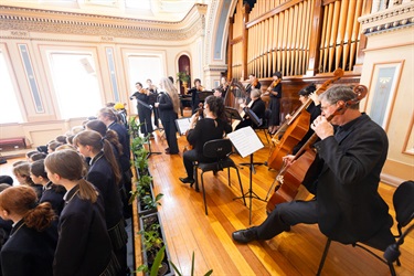
[[[166,132],[167,144],[169,148],[166,149],[167,155],[178,155],[177,142],[177,126],[178,112],[180,108],[180,99],[178,92],[168,77],[162,77],[160,81],[161,93],[158,97],[156,107],[160,110],[160,118]]]

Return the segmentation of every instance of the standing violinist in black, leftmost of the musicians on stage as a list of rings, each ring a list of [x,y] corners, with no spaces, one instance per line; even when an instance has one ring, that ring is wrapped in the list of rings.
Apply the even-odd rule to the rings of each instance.
[[[151,124],[151,106],[149,104],[149,95],[151,94],[148,89],[142,88],[141,83],[136,83],[135,87],[137,87],[137,92],[134,93],[129,99],[137,99],[137,109],[138,109],[138,117],[139,124],[142,124],[140,127],[140,131],[144,137],[148,135],[152,136],[152,124]]]

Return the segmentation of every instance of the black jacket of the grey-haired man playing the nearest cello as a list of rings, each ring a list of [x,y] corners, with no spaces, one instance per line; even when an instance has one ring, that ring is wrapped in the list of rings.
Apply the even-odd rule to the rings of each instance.
[[[385,131],[363,114],[316,148],[325,161],[317,185],[320,231],[353,243],[391,226],[389,206],[378,193],[389,148]]]

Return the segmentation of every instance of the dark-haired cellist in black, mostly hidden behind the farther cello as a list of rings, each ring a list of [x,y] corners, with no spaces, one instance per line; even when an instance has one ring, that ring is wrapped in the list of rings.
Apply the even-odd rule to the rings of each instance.
[[[320,115],[320,102],[318,95],[314,92],[316,91],[315,84],[311,84],[299,91],[299,100],[301,104],[305,104],[310,97],[314,102],[306,108],[310,114],[309,130],[306,132],[304,138],[294,147],[293,155],[296,155],[298,150],[306,144],[306,141],[312,136],[314,130],[310,128],[310,123],[312,123]],[[286,115],[286,119],[289,119],[290,115]]]

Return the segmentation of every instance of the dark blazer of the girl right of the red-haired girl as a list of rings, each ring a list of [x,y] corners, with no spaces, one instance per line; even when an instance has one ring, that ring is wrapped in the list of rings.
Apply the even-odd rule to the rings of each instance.
[[[112,258],[102,195],[95,203],[78,197],[79,187],[65,195],[66,205],[59,220],[59,242],[54,275],[99,275]]]

